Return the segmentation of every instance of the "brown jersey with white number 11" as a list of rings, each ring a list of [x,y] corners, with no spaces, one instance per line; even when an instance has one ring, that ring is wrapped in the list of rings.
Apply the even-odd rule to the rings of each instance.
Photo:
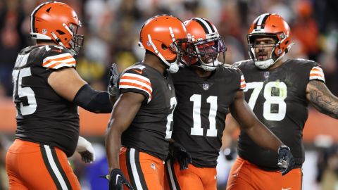
[[[208,79],[189,68],[173,75],[177,96],[173,139],[192,155],[197,167],[215,167],[225,117],[238,90],[245,87],[239,69],[219,67]]]

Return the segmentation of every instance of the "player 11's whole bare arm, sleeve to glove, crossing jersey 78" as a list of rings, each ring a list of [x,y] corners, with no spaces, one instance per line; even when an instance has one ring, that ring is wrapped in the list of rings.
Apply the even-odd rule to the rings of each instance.
[[[241,129],[244,129],[256,144],[263,148],[278,151],[282,141],[256,118],[256,115],[244,100],[243,91],[237,91],[234,103],[230,106],[230,112],[232,117],[239,123]]]

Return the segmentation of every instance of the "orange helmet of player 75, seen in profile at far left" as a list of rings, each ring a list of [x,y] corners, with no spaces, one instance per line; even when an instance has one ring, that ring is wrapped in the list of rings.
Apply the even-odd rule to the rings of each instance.
[[[77,54],[83,44],[83,35],[77,34],[81,26],[74,9],[60,2],[46,2],[30,15],[30,35],[33,39],[52,40]]]

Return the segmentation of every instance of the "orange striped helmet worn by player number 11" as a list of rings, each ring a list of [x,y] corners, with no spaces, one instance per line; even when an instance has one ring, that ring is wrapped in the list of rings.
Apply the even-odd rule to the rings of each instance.
[[[183,63],[204,70],[215,70],[217,66],[224,65],[227,49],[215,25],[205,18],[191,18],[184,21],[184,25],[192,39],[192,53],[183,56]],[[220,53],[223,54],[223,63],[218,61]]]

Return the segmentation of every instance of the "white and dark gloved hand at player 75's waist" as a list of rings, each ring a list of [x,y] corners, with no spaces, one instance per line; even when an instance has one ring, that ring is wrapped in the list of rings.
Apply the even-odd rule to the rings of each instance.
[[[95,161],[95,151],[92,144],[81,136],[79,136],[79,141],[77,141],[76,151],[80,153],[84,163],[92,163]]]

